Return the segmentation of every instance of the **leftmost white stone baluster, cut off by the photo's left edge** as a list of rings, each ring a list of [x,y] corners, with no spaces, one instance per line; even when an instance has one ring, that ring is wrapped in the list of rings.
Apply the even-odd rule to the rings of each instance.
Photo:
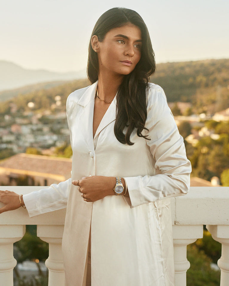
[[[25,234],[25,225],[0,225],[0,285],[13,286],[13,243]]]

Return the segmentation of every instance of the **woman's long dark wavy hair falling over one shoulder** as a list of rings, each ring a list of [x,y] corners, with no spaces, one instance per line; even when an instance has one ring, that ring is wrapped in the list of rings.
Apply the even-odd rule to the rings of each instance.
[[[149,76],[155,72],[155,56],[150,41],[150,35],[142,17],[135,11],[115,7],[99,17],[92,31],[97,35],[100,42],[104,40],[107,32],[111,29],[133,24],[141,30],[142,33],[142,50],[141,58],[135,69],[128,75],[125,75],[117,91],[116,121],[114,134],[119,142],[133,145],[130,141],[130,135],[136,129],[139,137],[147,138],[143,135],[145,121],[147,118],[146,92],[149,82]],[[87,76],[93,84],[98,80],[99,63],[97,53],[93,50],[91,42],[88,49]],[[124,129],[127,127],[126,132]],[[148,139],[150,140],[150,139]]]

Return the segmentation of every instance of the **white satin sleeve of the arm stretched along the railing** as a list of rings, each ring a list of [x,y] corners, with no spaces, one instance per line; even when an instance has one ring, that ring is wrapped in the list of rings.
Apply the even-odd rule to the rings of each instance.
[[[67,98],[66,102],[67,123],[72,146],[72,134],[68,116],[68,99],[69,98]],[[66,208],[70,186],[71,178],[64,182],[60,182],[59,184],[52,184],[48,188],[44,188],[39,191],[33,191],[32,193],[23,195],[24,204],[27,208],[29,216],[34,217],[49,211],[56,211],[62,208]]]

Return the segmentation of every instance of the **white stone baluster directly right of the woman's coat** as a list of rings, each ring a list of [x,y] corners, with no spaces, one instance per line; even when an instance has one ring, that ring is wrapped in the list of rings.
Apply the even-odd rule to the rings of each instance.
[[[187,245],[203,237],[203,225],[173,225],[175,286],[186,286]]]

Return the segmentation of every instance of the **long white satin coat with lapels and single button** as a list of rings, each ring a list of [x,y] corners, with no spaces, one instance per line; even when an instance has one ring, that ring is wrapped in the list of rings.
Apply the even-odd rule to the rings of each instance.
[[[133,146],[116,139],[116,98],[93,138],[97,84],[67,98],[71,179],[24,195],[28,213],[32,217],[67,205],[62,242],[66,286],[85,286],[90,225],[92,286],[174,286],[170,197],[187,194],[191,172],[183,138],[163,89],[151,83],[145,123],[151,140],[136,132],[130,137]],[[85,202],[71,180],[89,175],[124,177],[130,198]]]

